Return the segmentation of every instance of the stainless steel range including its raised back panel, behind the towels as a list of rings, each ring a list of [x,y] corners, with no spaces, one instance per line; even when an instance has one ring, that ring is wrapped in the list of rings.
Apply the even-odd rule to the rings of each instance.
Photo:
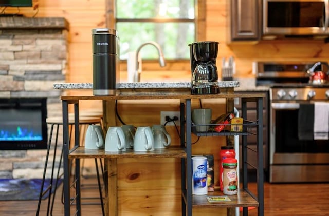
[[[270,182],[329,182],[329,140],[304,133],[305,127],[313,130],[314,116],[321,115],[314,112],[315,104],[329,104],[329,85],[308,83],[305,71],[313,64],[257,63],[257,85],[269,86]]]

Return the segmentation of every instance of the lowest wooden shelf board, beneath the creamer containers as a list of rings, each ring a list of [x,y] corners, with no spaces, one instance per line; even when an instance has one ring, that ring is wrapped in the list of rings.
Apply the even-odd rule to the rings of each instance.
[[[207,196],[220,196],[225,195],[222,191],[215,190],[209,191],[207,195],[193,195],[192,205],[193,208],[234,208],[234,207],[258,207],[259,202],[244,189],[239,189],[236,195],[228,195],[231,201],[226,202],[213,202],[207,200]]]

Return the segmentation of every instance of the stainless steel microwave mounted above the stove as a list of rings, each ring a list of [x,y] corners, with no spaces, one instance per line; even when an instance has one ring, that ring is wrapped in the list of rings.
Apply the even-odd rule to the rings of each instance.
[[[329,35],[329,0],[263,0],[263,35]]]

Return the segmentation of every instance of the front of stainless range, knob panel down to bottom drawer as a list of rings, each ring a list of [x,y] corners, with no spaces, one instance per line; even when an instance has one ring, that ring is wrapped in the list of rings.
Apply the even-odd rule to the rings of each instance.
[[[314,122],[309,115],[321,115],[301,107],[329,103],[328,96],[329,87],[270,88],[270,182],[329,181],[329,141],[315,140],[312,133],[310,138],[300,135],[300,118],[312,128]]]

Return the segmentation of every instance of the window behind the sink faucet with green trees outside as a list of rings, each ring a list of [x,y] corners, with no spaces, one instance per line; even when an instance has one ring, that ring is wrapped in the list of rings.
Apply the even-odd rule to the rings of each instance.
[[[126,59],[129,51],[136,51],[148,41],[160,45],[166,60],[190,58],[188,44],[197,38],[196,0],[112,1],[115,1],[113,21],[120,37],[120,59]],[[145,46],[140,52],[143,58],[158,58],[153,46]]]

